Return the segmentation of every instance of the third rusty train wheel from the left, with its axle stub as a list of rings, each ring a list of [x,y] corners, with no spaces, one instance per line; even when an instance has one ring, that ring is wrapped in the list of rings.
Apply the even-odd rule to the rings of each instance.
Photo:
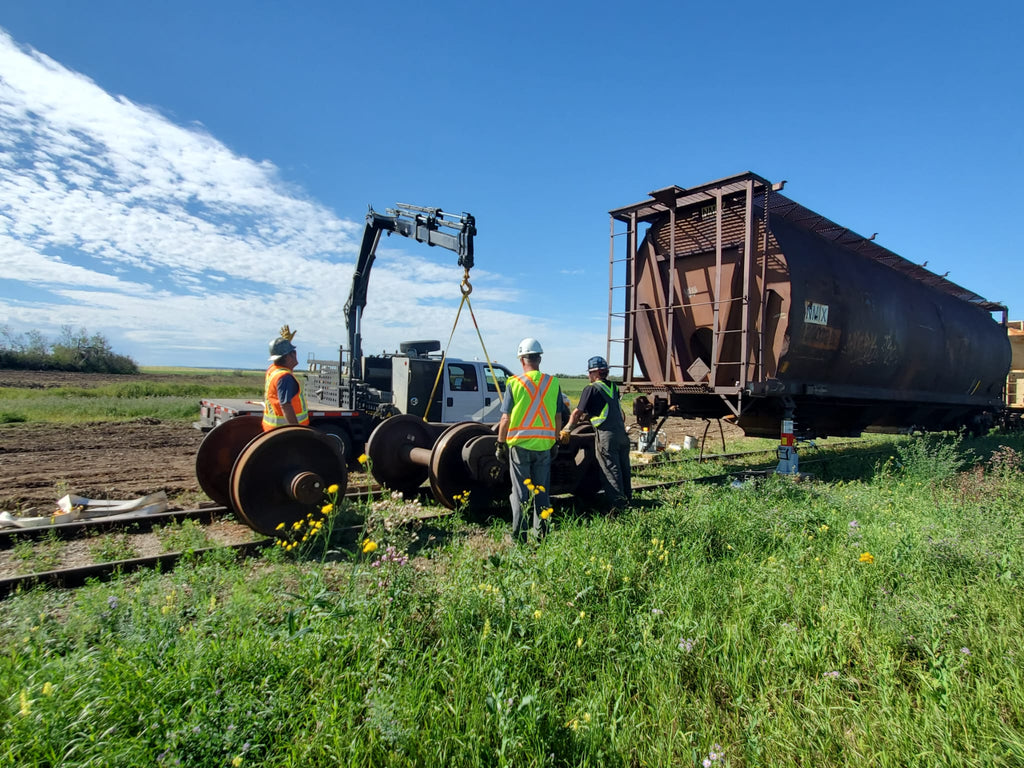
[[[417,416],[400,414],[385,419],[370,433],[367,456],[381,485],[410,496],[427,479],[429,452],[444,430]]]

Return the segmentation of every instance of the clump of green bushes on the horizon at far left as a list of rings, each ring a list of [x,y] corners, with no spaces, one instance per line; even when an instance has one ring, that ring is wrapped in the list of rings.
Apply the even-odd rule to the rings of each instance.
[[[118,354],[102,334],[61,326],[50,342],[37,330],[15,333],[0,326],[0,368],[31,371],[78,371],[90,374],[137,374],[131,357]]]

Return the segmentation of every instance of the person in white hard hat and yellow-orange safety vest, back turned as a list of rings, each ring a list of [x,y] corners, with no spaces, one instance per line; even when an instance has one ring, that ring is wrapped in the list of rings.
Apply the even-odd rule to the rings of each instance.
[[[558,379],[541,373],[544,350],[537,339],[519,342],[518,357],[522,375],[508,380],[502,399],[502,418],[498,422],[495,456],[507,462],[512,475],[513,541],[527,536],[524,513],[532,513],[530,528],[540,538],[551,515],[549,484],[551,459],[558,451],[561,429],[562,391]]]

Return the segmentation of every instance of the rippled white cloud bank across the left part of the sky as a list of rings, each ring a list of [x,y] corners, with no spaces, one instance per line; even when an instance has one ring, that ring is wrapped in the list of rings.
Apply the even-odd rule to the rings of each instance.
[[[0,139],[0,324],[51,336],[85,327],[143,364],[259,367],[289,323],[303,353],[337,354],[362,222],[304,197],[272,163],[111,95],[2,30]],[[445,344],[455,256],[396,243],[378,251],[364,349]],[[514,367],[525,329],[549,346],[564,333],[522,314],[511,281],[481,269],[472,280],[490,356]],[[452,348],[483,356],[468,310]]]

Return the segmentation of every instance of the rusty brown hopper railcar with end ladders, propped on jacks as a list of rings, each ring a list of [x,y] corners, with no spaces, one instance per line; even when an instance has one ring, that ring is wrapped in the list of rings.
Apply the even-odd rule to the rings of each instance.
[[[784,183],[743,173],[610,212],[608,353],[627,390],[657,416],[733,417],[757,436],[791,420],[808,438],[953,429],[998,411],[1006,307]]]

